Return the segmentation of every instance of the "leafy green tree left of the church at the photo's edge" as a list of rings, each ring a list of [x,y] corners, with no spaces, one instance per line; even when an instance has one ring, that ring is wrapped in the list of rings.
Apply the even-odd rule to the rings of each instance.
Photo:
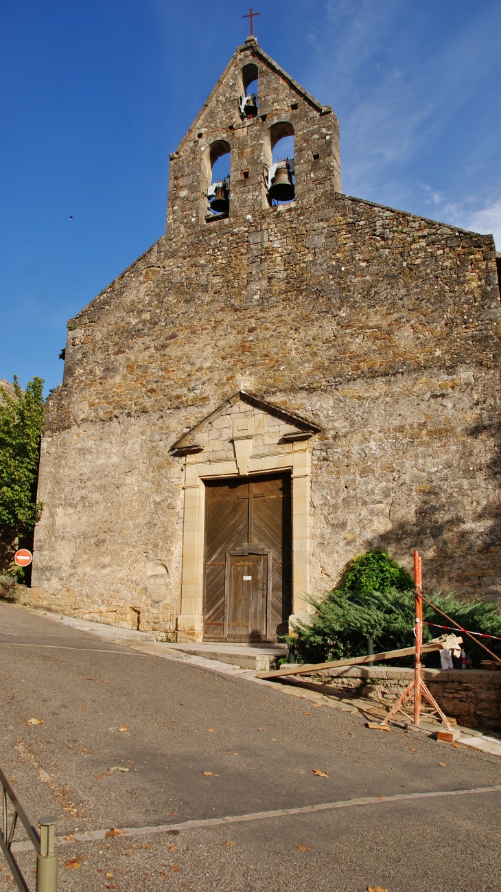
[[[43,386],[34,377],[23,392],[14,376],[14,396],[0,387],[0,527],[17,536],[32,532],[44,507],[37,502]]]

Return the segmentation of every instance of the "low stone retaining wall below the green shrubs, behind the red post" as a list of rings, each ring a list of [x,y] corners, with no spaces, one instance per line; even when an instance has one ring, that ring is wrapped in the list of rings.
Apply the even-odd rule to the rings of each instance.
[[[366,697],[391,706],[414,677],[413,669],[349,666],[301,675],[328,684],[344,697]],[[423,669],[423,681],[446,715],[466,728],[501,728],[501,672]]]

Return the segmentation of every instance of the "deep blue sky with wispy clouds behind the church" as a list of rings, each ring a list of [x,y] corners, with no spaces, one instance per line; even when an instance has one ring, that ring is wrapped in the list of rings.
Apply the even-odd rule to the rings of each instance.
[[[343,192],[501,249],[499,0],[261,0],[263,49],[341,123]],[[165,227],[168,153],[249,33],[235,0],[4,0],[0,378]],[[73,219],[70,220],[70,215]]]

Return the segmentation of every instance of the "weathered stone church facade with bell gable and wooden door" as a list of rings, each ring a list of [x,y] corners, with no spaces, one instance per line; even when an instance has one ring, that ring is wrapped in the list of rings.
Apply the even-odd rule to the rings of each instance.
[[[276,640],[373,547],[409,569],[420,549],[428,591],[498,597],[493,238],[342,194],[340,171],[332,108],[248,38],[170,156],[165,235],[68,324],[33,604]]]

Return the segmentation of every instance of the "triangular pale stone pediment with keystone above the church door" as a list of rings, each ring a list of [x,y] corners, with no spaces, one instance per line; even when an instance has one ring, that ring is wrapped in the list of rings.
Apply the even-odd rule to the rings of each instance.
[[[291,450],[294,442],[309,440],[320,427],[253,393],[239,391],[184,434],[171,447],[177,455],[203,452],[203,461],[236,458],[240,474],[247,473],[250,454],[270,449]]]

